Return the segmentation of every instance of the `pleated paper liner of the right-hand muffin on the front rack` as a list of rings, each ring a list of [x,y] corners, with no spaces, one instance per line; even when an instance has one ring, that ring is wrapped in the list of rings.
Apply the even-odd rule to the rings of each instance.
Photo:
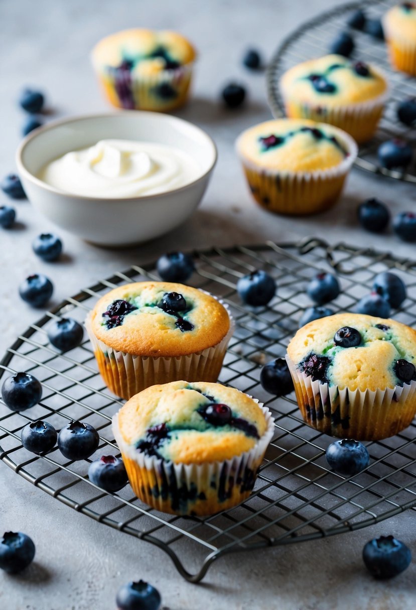
[[[384,390],[329,386],[299,371],[286,356],[305,422],[342,439],[380,440],[410,425],[416,412],[416,381]]]

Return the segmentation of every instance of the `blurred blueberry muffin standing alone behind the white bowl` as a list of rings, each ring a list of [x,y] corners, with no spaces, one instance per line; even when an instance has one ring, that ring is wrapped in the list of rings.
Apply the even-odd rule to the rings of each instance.
[[[92,62],[113,106],[173,110],[188,96],[195,49],[175,32],[131,29],[100,40]]]

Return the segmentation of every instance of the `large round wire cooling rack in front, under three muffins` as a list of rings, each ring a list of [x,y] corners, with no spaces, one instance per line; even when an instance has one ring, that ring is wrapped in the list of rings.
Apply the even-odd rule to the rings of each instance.
[[[96,487],[88,481],[89,460],[67,461],[57,448],[35,456],[21,445],[20,432],[28,422],[48,420],[60,429],[68,420],[80,418],[99,431],[95,459],[98,454],[119,455],[110,419],[122,402],[104,386],[90,343],[84,340],[74,350],[58,353],[48,343],[48,325],[67,315],[84,320],[96,300],[117,285],[157,279],[154,265],[133,266],[81,290],[29,326],[7,350],[1,374],[30,371],[42,382],[43,397],[37,406],[19,413],[0,404],[2,461],[76,511],[157,545],[192,582],[200,581],[212,562],[226,553],[340,534],[414,508],[415,424],[392,438],[367,443],[370,465],[359,475],[344,478],[331,472],[325,459],[331,437],[303,422],[294,393],[272,397],[260,386],[259,377],[261,365],[285,354],[304,307],[310,306],[305,290],[317,271],[332,270],[339,277],[342,293],[332,303],[336,311],[353,309],[370,292],[379,271],[398,270],[408,296],[404,309],[396,310],[394,317],[415,325],[416,261],[343,243],[329,246],[313,238],[193,254],[197,267],[190,283],[220,296],[236,321],[220,381],[264,401],[276,420],[274,439],[251,497],[205,518],[163,514],[132,497],[129,486],[115,494]],[[268,306],[249,308],[242,305],[235,284],[256,268],[273,274],[278,289]]]

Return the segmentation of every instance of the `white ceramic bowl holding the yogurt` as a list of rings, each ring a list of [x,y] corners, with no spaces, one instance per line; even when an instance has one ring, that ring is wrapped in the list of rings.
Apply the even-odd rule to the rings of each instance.
[[[190,154],[201,171],[184,187],[121,199],[71,195],[36,178],[45,163],[104,138],[175,146]],[[16,152],[18,173],[35,209],[66,231],[103,246],[146,242],[184,222],[201,201],[216,160],[215,144],[199,127],[170,115],[132,110],[49,123],[24,138]]]

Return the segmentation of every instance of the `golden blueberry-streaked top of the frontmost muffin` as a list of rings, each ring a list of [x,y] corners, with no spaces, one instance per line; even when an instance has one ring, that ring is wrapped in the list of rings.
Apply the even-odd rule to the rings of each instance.
[[[177,464],[203,464],[251,450],[267,422],[256,401],[239,390],[173,381],[132,397],[118,412],[118,427],[131,450]]]

